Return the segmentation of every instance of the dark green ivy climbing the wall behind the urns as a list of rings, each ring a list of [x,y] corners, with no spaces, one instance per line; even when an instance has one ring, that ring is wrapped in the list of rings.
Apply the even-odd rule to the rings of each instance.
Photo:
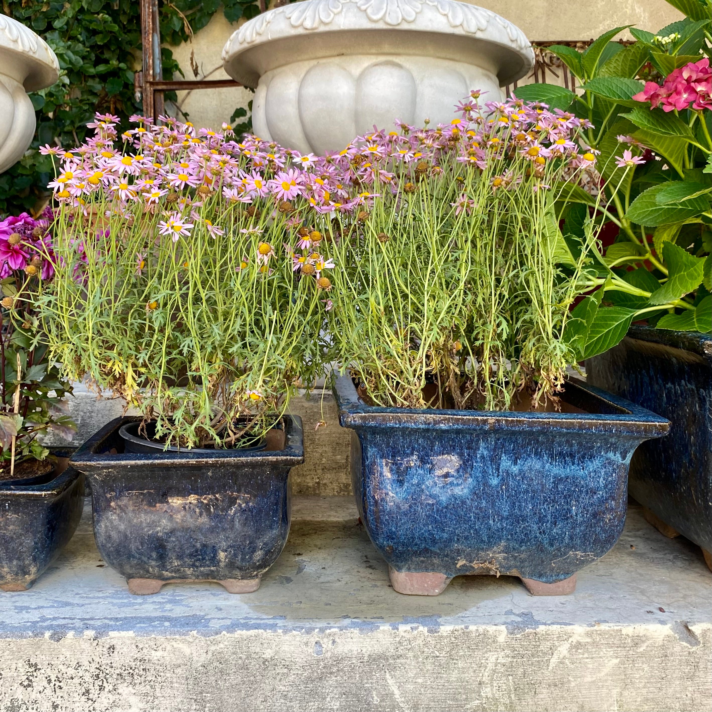
[[[159,6],[162,41],[173,46],[187,41],[222,6],[236,22],[259,12],[253,0],[174,0]],[[137,0],[3,0],[4,14],[26,24],[54,50],[59,81],[31,94],[37,130],[26,155],[0,175],[0,214],[31,211],[38,214],[51,192],[49,157],[41,145],[70,149],[87,135],[95,112],[110,112],[127,122],[141,112],[134,89],[134,73],[141,68],[140,3]],[[161,50],[165,79],[180,72],[169,48]],[[173,92],[167,100],[176,100]]]

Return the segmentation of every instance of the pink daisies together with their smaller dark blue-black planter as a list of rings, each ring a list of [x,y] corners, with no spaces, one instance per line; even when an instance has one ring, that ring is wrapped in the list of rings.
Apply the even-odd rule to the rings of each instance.
[[[131,592],[184,580],[250,592],[288,535],[289,471],[303,461],[290,395],[325,355],[325,266],[314,254],[295,271],[284,247],[302,239],[302,168],[229,127],[134,118],[117,139],[115,117],[98,116],[51,184],[48,345],[71,378],[142,413],[110,422],[72,464],[91,486],[100,553]]]

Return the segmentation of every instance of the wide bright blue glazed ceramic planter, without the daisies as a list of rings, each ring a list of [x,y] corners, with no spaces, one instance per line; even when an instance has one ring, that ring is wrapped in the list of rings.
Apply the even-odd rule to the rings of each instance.
[[[394,590],[437,595],[463,574],[513,575],[538,595],[569,593],[575,573],[618,539],[628,465],[666,419],[585,384],[578,412],[371,407],[335,383],[361,520]]]

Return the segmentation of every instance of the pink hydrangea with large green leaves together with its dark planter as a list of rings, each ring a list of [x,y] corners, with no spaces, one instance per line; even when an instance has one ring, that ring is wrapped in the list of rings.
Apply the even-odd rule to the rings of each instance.
[[[670,436],[637,452],[630,491],[651,523],[684,533],[710,564],[712,5],[671,4],[686,18],[656,34],[633,28],[637,42],[627,48],[609,42],[622,28],[599,38],[594,46],[608,56],[599,66],[586,54],[554,51],[584,82],[571,110],[607,116],[592,135],[600,158],[627,144],[607,175],[619,182],[607,216],[614,242],[599,260],[600,289],[580,307],[593,320],[617,323],[604,344],[610,350],[582,348],[588,382],[669,417]],[[540,92],[561,90],[524,94]],[[575,224],[592,201],[580,192],[572,199]]]

